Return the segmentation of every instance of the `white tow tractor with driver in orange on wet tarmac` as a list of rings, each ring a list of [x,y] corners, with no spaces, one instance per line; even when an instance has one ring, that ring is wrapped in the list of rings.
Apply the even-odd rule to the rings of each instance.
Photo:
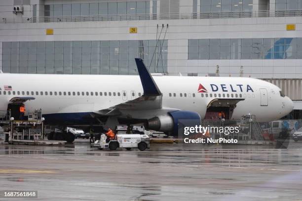
[[[117,148],[138,148],[140,151],[144,151],[150,148],[150,138],[147,134],[116,134],[113,140],[107,140],[106,134],[101,134],[101,139],[91,143],[91,147],[109,148],[110,150],[116,150]]]

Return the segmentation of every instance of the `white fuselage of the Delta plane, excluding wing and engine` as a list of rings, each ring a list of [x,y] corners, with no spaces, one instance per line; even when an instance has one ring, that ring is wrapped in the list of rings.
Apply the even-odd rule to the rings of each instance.
[[[153,76],[153,79],[163,94],[163,107],[194,111],[201,119],[215,99],[243,99],[237,103],[231,119],[249,113],[261,120],[279,119],[293,109],[292,100],[281,96],[280,88],[259,79],[188,76]],[[204,90],[200,90],[200,84]],[[11,86],[11,91],[4,91],[4,86]],[[25,102],[25,115],[39,108],[43,115],[96,112],[143,95],[140,77],[136,75],[1,73],[0,88],[0,110],[6,110],[14,97],[35,98]]]

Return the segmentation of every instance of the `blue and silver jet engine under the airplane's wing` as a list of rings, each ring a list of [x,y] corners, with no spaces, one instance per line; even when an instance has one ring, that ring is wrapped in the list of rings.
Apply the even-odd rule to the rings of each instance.
[[[190,121],[190,123],[193,122],[196,125],[200,125],[201,123],[200,116],[197,112],[179,110],[179,111],[169,112],[167,115],[161,115],[148,120],[147,129],[164,132],[164,133],[170,133],[173,136],[177,136],[179,120],[192,120]],[[188,121],[182,122],[182,126],[186,126],[184,125],[187,124],[186,122]],[[188,126],[192,126],[192,125],[188,125]]]

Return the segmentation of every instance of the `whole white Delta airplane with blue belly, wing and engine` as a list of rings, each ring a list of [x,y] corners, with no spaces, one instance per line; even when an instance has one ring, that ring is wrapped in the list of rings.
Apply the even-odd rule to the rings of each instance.
[[[24,104],[25,116],[41,108],[49,125],[144,124],[177,134],[178,120],[225,119],[253,114],[284,117],[293,102],[277,86],[253,78],[151,76],[141,59],[137,75],[0,74],[0,110]]]

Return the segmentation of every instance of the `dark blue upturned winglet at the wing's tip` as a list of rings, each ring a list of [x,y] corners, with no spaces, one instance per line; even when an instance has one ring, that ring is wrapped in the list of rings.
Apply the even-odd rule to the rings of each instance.
[[[159,91],[143,60],[135,58],[135,62],[143,85],[144,95],[160,96],[161,92]]]

